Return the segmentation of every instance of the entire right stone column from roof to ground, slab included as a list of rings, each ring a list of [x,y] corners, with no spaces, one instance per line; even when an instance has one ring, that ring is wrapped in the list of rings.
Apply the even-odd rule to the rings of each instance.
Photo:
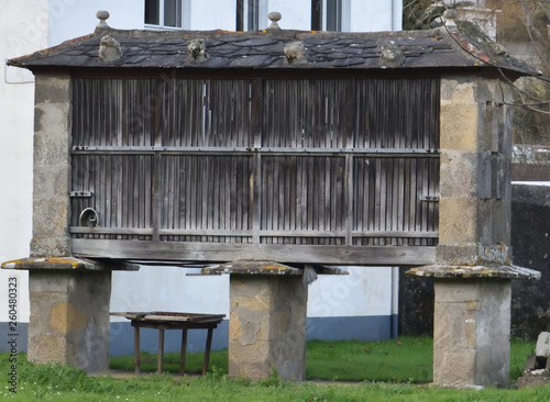
[[[509,376],[510,279],[540,273],[510,261],[510,101],[484,77],[441,80],[439,244],[433,382],[505,387]]]

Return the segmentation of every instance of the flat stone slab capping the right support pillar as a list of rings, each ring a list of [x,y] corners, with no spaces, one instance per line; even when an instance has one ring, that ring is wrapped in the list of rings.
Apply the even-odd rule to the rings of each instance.
[[[529,268],[516,266],[449,266],[429,265],[406,271],[411,277],[422,278],[495,278],[495,279],[540,279],[540,272]]]

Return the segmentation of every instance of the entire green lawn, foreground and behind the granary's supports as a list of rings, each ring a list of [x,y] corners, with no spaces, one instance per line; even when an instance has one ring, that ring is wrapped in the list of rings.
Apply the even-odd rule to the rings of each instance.
[[[512,345],[510,378],[520,373],[532,344]],[[386,342],[311,342],[307,351],[308,379],[285,382],[275,376],[252,382],[227,376],[227,350],[212,354],[207,376],[144,375],[113,379],[92,377],[58,365],[34,366],[18,356],[18,393],[0,389],[0,400],[12,401],[548,401],[550,387],[485,391],[441,390],[431,379],[431,339],[399,338]],[[155,357],[144,355],[143,369],[154,370]],[[191,370],[199,370],[201,355],[191,354]],[[175,354],[166,356],[168,370],[177,370]],[[113,369],[133,369],[132,357],[113,358]],[[8,355],[0,355],[0,372],[8,378]],[[127,366],[124,366],[127,365]],[[148,366],[150,367],[148,367]],[[148,368],[147,368],[148,367]],[[338,380],[339,382],[334,382]],[[354,382],[340,382],[354,381]],[[3,381],[7,384],[7,381]],[[10,398],[11,397],[11,398]]]

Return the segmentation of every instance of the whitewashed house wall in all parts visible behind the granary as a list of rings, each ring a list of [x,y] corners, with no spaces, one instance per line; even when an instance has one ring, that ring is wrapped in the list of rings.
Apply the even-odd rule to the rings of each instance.
[[[234,30],[234,0],[188,0],[193,30]],[[283,29],[310,29],[310,1],[265,0],[267,11],[283,14]],[[400,27],[402,0],[344,0],[352,31],[389,31]],[[396,5],[398,3],[398,5]],[[110,12],[116,29],[143,29],[143,1],[136,0],[18,0],[4,2],[0,14],[0,56],[21,56],[92,33],[96,12]],[[265,20],[265,26],[268,21]],[[265,27],[264,26],[264,27]],[[345,26],[345,24],[344,24]],[[32,137],[34,86],[25,70],[3,66],[0,81],[0,261],[29,256],[32,237]],[[7,72],[8,71],[8,72]],[[320,276],[310,286],[310,317],[388,316],[395,275],[389,268],[350,268],[350,276]],[[227,277],[188,277],[187,269],[142,267],[139,272],[113,272],[111,311],[168,310],[223,313],[229,316]],[[0,283],[20,278],[21,322],[29,322],[26,272],[0,271]],[[394,283],[394,287],[393,284]],[[0,286],[0,300],[7,300]],[[394,301],[395,304],[395,301]],[[1,305],[1,304],[0,304]],[[394,311],[395,313],[395,311]],[[7,309],[0,308],[0,322]]]

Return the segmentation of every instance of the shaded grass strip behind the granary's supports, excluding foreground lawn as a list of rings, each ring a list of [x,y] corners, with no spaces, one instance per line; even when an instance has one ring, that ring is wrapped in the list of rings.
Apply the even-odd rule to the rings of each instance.
[[[517,380],[524,370],[534,345],[524,340],[512,342],[510,380]],[[308,380],[329,381],[389,381],[427,383],[432,380],[433,340],[431,337],[400,337],[383,342],[309,342],[307,345],[306,376]],[[156,371],[156,355],[142,353],[143,372]],[[133,356],[111,357],[111,369],[134,370]],[[210,367],[228,372],[228,350],[212,351]],[[202,354],[188,354],[186,370],[200,372]],[[164,370],[178,372],[179,354],[164,357]]]

